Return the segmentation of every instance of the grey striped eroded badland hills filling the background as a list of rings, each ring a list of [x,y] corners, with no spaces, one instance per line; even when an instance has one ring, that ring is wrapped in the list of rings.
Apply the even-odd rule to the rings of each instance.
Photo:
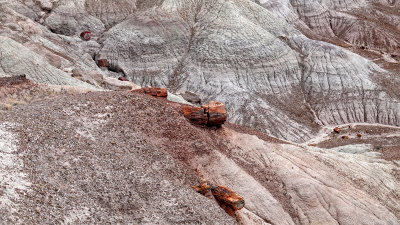
[[[71,67],[116,76],[82,60],[107,58],[138,85],[222,101],[231,122],[279,138],[306,141],[329,124],[400,125],[398,96],[372,78],[396,74],[338,46],[395,62],[397,1],[59,0],[42,3],[46,9],[27,2],[5,5],[43,25],[33,22],[44,30],[36,39],[69,41],[58,43],[69,51],[58,51],[79,59]],[[75,38],[83,30],[97,42]]]

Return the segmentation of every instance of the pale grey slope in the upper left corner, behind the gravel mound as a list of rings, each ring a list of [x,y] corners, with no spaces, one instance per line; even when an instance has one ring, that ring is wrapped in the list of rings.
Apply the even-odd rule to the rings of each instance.
[[[0,76],[26,75],[42,84],[101,89],[105,74],[91,55],[96,42],[56,35],[30,13],[25,12],[32,18],[18,13],[16,9],[24,8],[13,3],[0,2]]]

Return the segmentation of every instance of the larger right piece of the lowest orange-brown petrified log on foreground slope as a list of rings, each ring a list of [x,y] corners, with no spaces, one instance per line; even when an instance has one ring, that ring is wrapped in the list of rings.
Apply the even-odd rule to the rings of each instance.
[[[211,192],[219,203],[228,205],[235,211],[244,207],[243,197],[227,187],[213,186]]]

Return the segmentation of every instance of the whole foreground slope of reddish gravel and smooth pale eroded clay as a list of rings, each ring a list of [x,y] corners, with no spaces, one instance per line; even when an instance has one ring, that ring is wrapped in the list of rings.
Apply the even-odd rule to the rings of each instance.
[[[107,92],[2,113],[0,165],[18,178],[1,181],[2,221],[234,223],[190,189],[206,179],[244,197],[241,224],[399,222],[398,162],[197,127],[180,108]]]

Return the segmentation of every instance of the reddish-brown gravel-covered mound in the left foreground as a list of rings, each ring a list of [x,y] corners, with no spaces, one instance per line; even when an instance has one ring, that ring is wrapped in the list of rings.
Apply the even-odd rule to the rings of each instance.
[[[15,125],[18,155],[31,183],[20,193],[24,207],[13,217],[3,214],[1,221],[235,221],[191,190],[200,180],[182,162],[193,151],[207,154],[212,140],[200,142],[207,140],[204,132],[165,100],[128,92],[67,94],[16,105],[0,122]]]

